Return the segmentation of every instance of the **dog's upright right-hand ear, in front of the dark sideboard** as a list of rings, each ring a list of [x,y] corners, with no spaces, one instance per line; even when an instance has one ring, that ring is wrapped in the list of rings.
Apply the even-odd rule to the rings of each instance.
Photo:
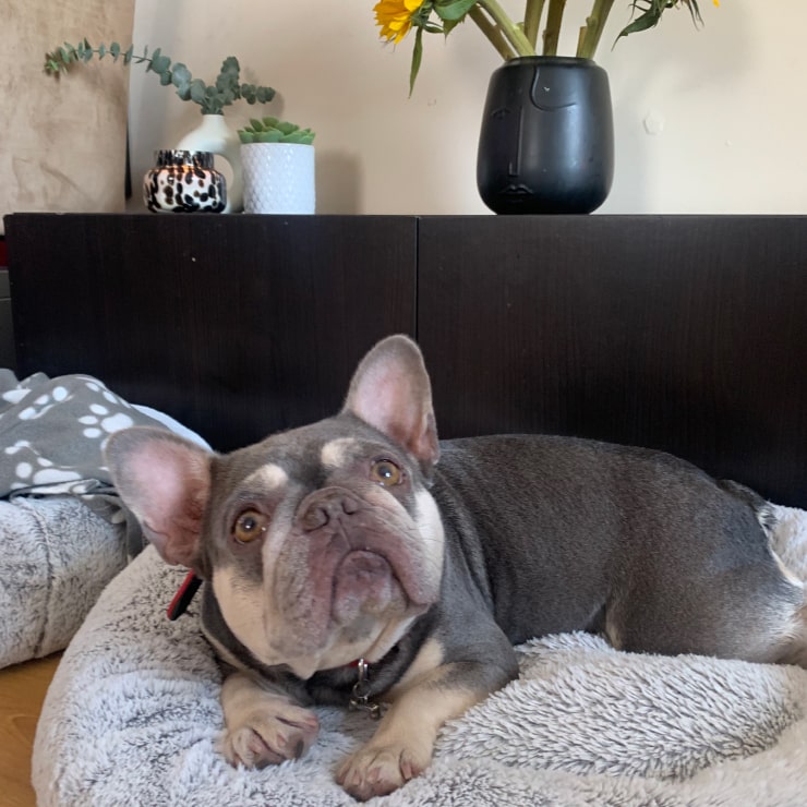
[[[384,432],[426,468],[437,461],[432,385],[420,348],[408,337],[389,336],[362,359],[342,411]]]

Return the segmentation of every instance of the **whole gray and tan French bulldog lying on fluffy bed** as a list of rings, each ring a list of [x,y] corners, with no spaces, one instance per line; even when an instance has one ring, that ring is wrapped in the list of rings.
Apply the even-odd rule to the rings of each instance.
[[[233,764],[303,754],[312,704],[383,703],[336,775],[359,799],[389,793],[445,721],[517,676],[515,643],[551,633],[807,665],[804,587],[762,498],[640,448],[438,442],[404,336],[363,359],[334,418],[226,456],[135,427],[107,459],[162,557],[205,581]]]

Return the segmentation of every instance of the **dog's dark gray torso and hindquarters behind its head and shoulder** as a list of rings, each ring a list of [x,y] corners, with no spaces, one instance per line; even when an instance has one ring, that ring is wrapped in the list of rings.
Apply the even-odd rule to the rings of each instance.
[[[481,557],[514,642],[583,629],[623,649],[788,652],[803,587],[740,485],[661,451],[542,435],[444,442],[435,477],[447,535],[470,566]]]

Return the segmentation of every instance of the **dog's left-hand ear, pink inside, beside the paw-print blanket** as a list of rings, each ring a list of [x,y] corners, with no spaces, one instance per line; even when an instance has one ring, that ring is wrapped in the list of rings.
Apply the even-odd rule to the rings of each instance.
[[[149,542],[168,563],[195,569],[213,454],[171,432],[135,426],[113,434],[105,455]]]

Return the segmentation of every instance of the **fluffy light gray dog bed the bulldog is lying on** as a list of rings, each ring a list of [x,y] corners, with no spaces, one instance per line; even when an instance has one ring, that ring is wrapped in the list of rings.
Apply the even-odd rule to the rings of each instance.
[[[778,550],[807,567],[807,515],[780,508]],[[183,578],[146,550],[68,648],[34,749],[40,805],[354,805],[335,783],[374,730],[318,709],[320,738],[278,768],[216,751],[220,674]],[[469,628],[470,629],[470,628]],[[631,655],[575,634],[525,646],[521,677],[442,732],[434,764],[388,805],[807,803],[807,672],[698,657]]]

